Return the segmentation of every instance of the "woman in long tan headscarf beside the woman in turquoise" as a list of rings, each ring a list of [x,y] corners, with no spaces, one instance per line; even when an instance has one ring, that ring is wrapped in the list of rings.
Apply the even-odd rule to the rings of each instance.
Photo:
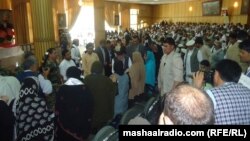
[[[140,52],[132,54],[132,66],[128,70],[131,88],[129,90],[129,100],[134,100],[135,96],[144,93],[145,86],[145,67]]]

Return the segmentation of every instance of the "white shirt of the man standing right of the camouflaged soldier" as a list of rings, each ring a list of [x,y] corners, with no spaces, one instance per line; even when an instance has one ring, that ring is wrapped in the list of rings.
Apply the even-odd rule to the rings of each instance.
[[[76,66],[73,60],[63,59],[59,65],[60,74],[63,76],[63,80],[67,80],[66,71],[69,67]]]

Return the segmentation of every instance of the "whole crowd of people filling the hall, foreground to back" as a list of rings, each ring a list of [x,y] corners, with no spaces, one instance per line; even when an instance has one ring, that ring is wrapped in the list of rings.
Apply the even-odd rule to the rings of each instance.
[[[249,36],[240,24],[163,21],[106,32],[83,54],[74,39],[39,67],[27,53],[16,77],[0,76],[0,139],[86,140],[155,96],[163,110],[151,124],[249,125],[250,89],[238,83],[250,79]]]

